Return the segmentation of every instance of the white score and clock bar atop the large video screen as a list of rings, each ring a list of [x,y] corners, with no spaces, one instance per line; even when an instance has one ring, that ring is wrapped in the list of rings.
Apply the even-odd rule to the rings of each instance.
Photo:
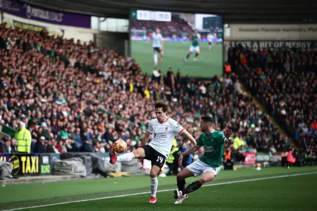
[[[150,21],[166,21],[172,20],[171,12],[150,11],[150,10],[131,10],[131,19],[150,20]]]

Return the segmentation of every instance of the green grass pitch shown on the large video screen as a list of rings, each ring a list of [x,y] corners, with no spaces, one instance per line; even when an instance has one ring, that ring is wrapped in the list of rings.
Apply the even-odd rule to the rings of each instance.
[[[222,45],[213,44],[209,51],[207,42],[200,42],[200,55],[197,61],[193,61],[194,53],[184,62],[191,42],[164,41],[163,62],[159,62],[158,68],[165,74],[171,67],[176,74],[178,69],[183,76],[187,74],[193,77],[211,78],[222,74]],[[131,40],[131,56],[136,59],[144,72],[152,75],[154,69],[152,42]]]

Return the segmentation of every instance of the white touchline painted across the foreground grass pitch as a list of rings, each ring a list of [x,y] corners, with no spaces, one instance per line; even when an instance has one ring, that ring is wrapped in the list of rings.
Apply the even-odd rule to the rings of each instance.
[[[262,178],[256,178],[256,179],[245,179],[245,180],[237,180],[237,181],[231,181],[231,182],[220,182],[220,183],[215,183],[215,184],[204,185],[202,187],[209,187],[209,186],[215,186],[215,185],[227,185],[227,184],[240,183],[240,182],[252,182],[252,181],[258,181],[258,180],[264,180],[264,179],[276,179],[276,178],[283,178],[283,177],[302,176],[302,175],[309,175],[309,174],[316,174],[316,173],[317,173],[317,171],[308,172],[308,173],[298,173],[298,174],[285,174],[285,175],[281,175],[281,176],[262,177]],[[167,191],[173,191],[173,190],[175,190],[175,189],[161,190],[158,192],[167,192]],[[55,204],[49,204],[49,205],[40,205],[40,206],[33,206],[33,207],[26,207],[26,208],[14,208],[11,210],[3,210],[3,211],[17,211],[17,210],[32,209],[32,208],[43,208],[43,207],[49,207],[49,206],[55,206],[55,205],[65,205],[65,204],[70,204],[70,203],[89,202],[89,201],[103,200],[103,199],[113,199],[113,198],[119,198],[119,197],[136,196],[136,195],[150,194],[150,193],[151,192],[142,192],[142,193],[135,193],[135,194],[119,195],[119,196],[108,196],[108,197],[103,197],[103,198],[84,199],[84,200],[77,200],[77,201],[72,201],[72,202],[61,202],[61,203],[55,203]]]

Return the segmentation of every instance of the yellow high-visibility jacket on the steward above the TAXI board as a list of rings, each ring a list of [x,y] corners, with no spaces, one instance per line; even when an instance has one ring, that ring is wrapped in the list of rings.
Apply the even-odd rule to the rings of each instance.
[[[17,150],[19,153],[31,153],[31,132],[25,127],[15,133]]]

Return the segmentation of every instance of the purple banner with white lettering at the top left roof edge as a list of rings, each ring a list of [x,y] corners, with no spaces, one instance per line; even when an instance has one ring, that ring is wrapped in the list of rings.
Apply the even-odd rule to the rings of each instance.
[[[91,28],[91,16],[60,12],[22,3],[18,0],[0,0],[0,10],[21,18],[65,26]]]

